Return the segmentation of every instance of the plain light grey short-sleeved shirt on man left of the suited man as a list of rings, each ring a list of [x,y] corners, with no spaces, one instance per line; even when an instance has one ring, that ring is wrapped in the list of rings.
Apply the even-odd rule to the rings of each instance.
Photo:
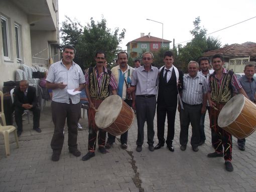
[[[146,71],[144,66],[136,68],[133,73],[132,86],[136,86],[135,95],[156,95],[159,82],[159,70],[151,66]]]

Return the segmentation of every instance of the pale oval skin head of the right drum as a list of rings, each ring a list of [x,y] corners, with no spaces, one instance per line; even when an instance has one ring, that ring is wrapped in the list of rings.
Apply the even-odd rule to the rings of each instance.
[[[245,102],[245,97],[238,94],[232,97],[221,109],[218,117],[218,125],[226,127],[236,120],[241,113]]]

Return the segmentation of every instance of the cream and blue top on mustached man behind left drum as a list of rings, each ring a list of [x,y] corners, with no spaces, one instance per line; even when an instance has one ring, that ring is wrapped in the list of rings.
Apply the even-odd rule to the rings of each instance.
[[[117,95],[119,95],[122,99],[127,99],[128,95],[126,89],[127,86],[129,87],[132,83],[134,68],[127,65],[127,69],[124,72],[122,72],[120,66],[118,65],[113,67],[111,71],[115,81],[117,82]]]

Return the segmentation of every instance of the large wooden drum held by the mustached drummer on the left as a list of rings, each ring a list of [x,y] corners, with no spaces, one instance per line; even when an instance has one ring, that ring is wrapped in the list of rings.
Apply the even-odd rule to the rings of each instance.
[[[125,133],[133,124],[134,111],[118,95],[104,99],[95,115],[95,124],[112,135]]]

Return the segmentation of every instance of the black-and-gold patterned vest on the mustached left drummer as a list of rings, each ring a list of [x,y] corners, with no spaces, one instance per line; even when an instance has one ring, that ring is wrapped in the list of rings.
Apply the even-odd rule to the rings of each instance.
[[[98,84],[97,77],[96,77],[96,68],[90,67],[88,69],[88,76],[89,76],[89,92],[90,96],[93,99],[105,99],[109,96],[109,82],[111,71],[107,69],[107,73],[104,72],[103,77],[100,81],[100,85]]]

